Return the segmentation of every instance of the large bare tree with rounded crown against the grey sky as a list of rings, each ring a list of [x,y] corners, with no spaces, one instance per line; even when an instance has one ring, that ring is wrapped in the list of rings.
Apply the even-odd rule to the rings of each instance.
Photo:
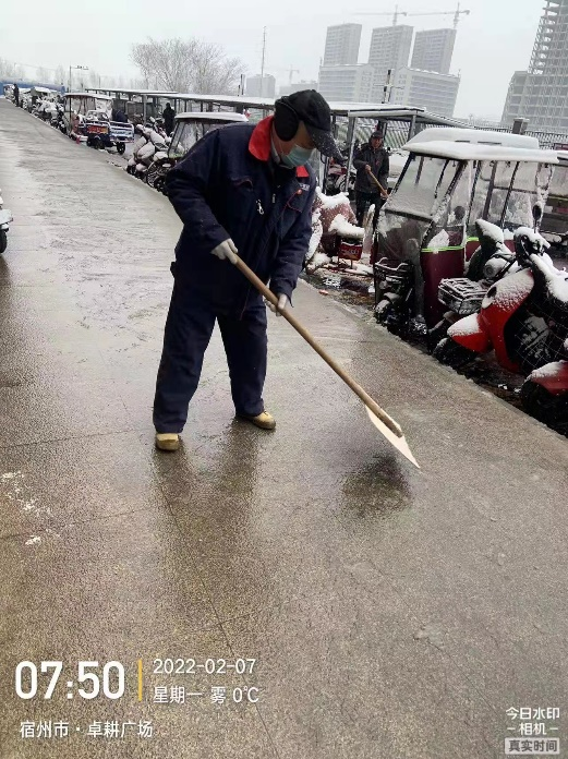
[[[167,92],[230,95],[237,92],[241,62],[222,48],[197,39],[148,38],[132,46],[131,58],[146,87]]]

